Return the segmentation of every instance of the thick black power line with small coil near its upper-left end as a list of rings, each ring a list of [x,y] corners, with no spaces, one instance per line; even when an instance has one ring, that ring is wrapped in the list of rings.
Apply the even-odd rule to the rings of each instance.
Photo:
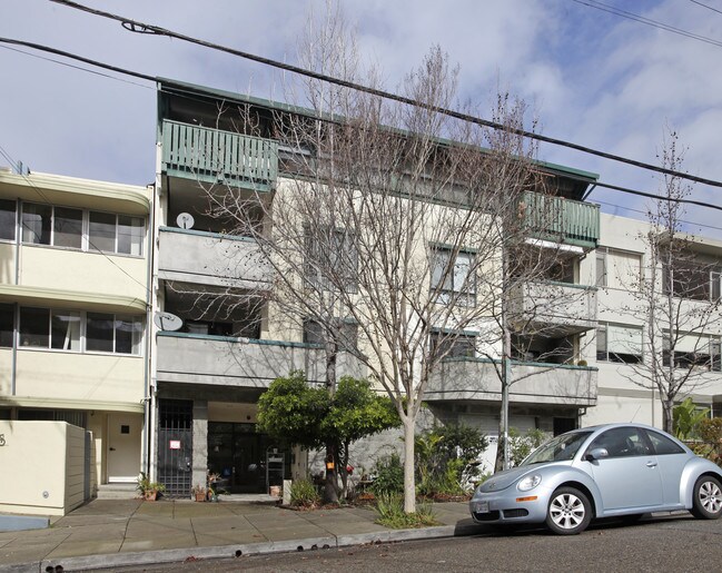
[[[646,164],[646,162],[643,162],[643,161],[637,161],[635,159],[630,159],[630,158],[617,156],[617,155],[614,155],[614,154],[609,154],[606,151],[600,151],[597,149],[593,149],[593,148],[590,148],[590,147],[586,147],[586,146],[582,146],[582,145],[578,145],[578,144],[573,144],[571,141],[565,141],[563,139],[556,139],[556,138],[543,136],[541,134],[535,134],[533,131],[527,131],[527,130],[524,130],[524,129],[513,129],[513,128],[510,128],[510,126],[504,126],[502,124],[498,124],[498,122],[495,122],[495,121],[489,121],[487,119],[478,118],[478,117],[475,117],[475,116],[471,116],[468,113],[462,113],[459,111],[443,108],[443,107],[439,107],[439,106],[433,106],[433,105],[424,103],[424,102],[417,101],[417,100],[412,99],[412,98],[407,98],[407,97],[404,97],[404,96],[398,96],[396,93],[392,93],[389,91],[384,91],[384,90],[376,89],[376,88],[369,88],[368,86],[364,86],[364,85],[360,85],[360,83],[355,83],[353,81],[347,81],[347,80],[343,80],[343,79],[339,79],[339,78],[334,78],[334,77],[327,76],[325,73],[318,73],[318,72],[313,71],[313,70],[307,70],[307,69],[304,69],[304,68],[299,68],[297,66],[291,66],[291,65],[288,65],[288,63],[284,63],[284,62],[280,62],[280,61],[277,61],[277,60],[273,60],[270,58],[265,58],[265,57],[257,56],[257,55],[249,53],[249,52],[245,52],[245,51],[241,51],[241,50],[236,50],[234,48],[228,48],[226,46],[220,46],[218,43],[209,42],[209,41],[206,41],[206,40],[194,38],[191,36],[186,36],[186,34],[182,34],[182,33],[179,33],[179,32],[175,32],[175,31],[168,30],[166,28],[161,28],[161,27],[158,27],[158,26],[140,22],[138,20],[131,20],[129,18],[118,16],[118,14],[113,14],[113,13],[110,13],[110,12],[106,12],[106,11],[102,11],[102,10],[97,10],[95,8],[90,8],[90,7],[80,4],[78,2],[72,2],[72,1],[69,1],[69,0],[50,0],[50,1],[55,2],[55,3],[58,3],[58,4],[66,6],[68,8],[73,8],[76,10],[81,10],[83,12],[88,12],[88,13],[91,13],[93,16],[99,16],[101,18],[116,20],[116,21],[120,22],[121,26],[125,29],[127,29],[127,30],[129,30],[131,32],[148,33],[148,34],[156,34],[156,36],[166,36],[168,38],[176,38],[178,40],[184,40],[184,41],[187,41],[187,42],[190,42],[190,43],[202,46],[205,48],[222,51],[222,52],[226,52],[226,53],[230,53],[233,56],[237,56],[239,58],[244,58],[244,59],[248,59],[248,60],[256,61],[256,62],[259,62],[259,63],[264,63],[264,65],[270,66],[273,68],[278,68],[278,69],[289,71],[289,72],[293,72],[293,73],[298,73],[300,76],[306,76],[306,77],[314,78],[314,79],[317,79],[317,80],[320,80],[320,81],[326,81],[326,82],[333,83],[335,86],[340,86],[340,87],[344,87],[344,88],[358,90],[358,91],[362,91],[362,92],[365,92],[365,93],[369,93],[372,96],[377,96],[377,97],[380,97],[380,98],[384,98],[384,99],[390,99],[393,101],[398,101],[400,103],[405,103],[405,105],[408,105],[408,106],[414,106],[414,107],[418,107],[418,108],[422,108],[422,109],[427,109],[429,111],[434,111],[436,113],[441,113],[441,115],[448,116],[448,117],[452,117],[452,118],[455,118],[455,119],[459,119],[462,121],[468,121],[471,124],[479,125],[479,126],[483,126],[483,127],[488,127],[491,129],[500,129],[500,130],[510,131],[510,132],[512,132],[514,135],[517,135],[517,136],[521,136],[521,137],[525,137],[525,138],[533,139],[533,140],[536,140],[536,141],[542,141],[544,144],[551,144],[551,145],[555,145],[555,146],[560,146],[560,147],[566,147],[568,149],[574,149],[574,150],[577,150],[577,151],[582,151],[584,154],[594,155],[594,156],[597,156],[597,157],[602,157],[604,159],[610,159],[612,161],[617,161],[617,162],[631,165],[631,166],[634,166],[634,167],[639,167],[640,169],[646,169],[649,171],[655,171],[655,172],[669,175],[671,177],[679,177],[680,179],[686,179],[689,181],[694,181],[694,182],[699,182],[699,184],[703,184],[703,185],[709,185],[711,187],[722,187],[722,181],[718,181],[718,180],[709,179],[709,178],[704,178],[704,177],[698,177],[698,176],[685,174],[685,172],[682,172],[682,171],[675,171],[674,169],[667,169],[665,167],[660,167],[660,166]]]

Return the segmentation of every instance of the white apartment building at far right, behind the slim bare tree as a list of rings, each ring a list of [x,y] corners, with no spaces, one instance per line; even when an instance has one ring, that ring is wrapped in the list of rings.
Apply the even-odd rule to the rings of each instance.
[[[680,234],[685,254],[674,263],[676,268],[667,269],[651,261],[650,233],[660,231],[646,221],[603,214],[600,245],[583,267],[586,280],[597,287],[599,317],[592,356],[599,368],[596,406],[582,412],[583,425],[634,421],[662,427],[660,393],[649,379],[654,359],[660,368],[673,360],[676,379],[688,376],[676,402],[691,396],[720,415],[722,241]],[[670,274],[673,280],[667,283]],[[653,275],[663,304],[650,320],[650,295],[643,289]],[[663,300],[667,285],[673,290],[671,310]]]

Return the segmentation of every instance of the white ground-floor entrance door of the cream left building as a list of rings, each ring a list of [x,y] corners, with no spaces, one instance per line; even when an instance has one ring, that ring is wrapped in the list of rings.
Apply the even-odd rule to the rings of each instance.
[[[140,472],[142,416],[108,414],[108,482],[135,482]]]

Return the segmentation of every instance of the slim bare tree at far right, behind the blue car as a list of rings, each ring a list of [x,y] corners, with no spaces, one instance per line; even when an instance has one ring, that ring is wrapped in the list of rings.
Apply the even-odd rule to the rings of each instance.
[[[683,168],[684,150],[671,131],[661,155],[662,165]],[[699,240],[684,231],[684,206],[679,200],[692,188],[679,177],[664,176],[661,194],[647,211],[650,229],[641,237],[646,246],[646,268],[633,286],[632,312],[645,317],[640,349],[643,359],[633,364],[634,384],[655,391],[663,412],[663,428],[673,431],[673,408],[688,395],[711,382],[720,371],[719,258],[705,255]],[[637,315],[640,316],[640,315]],[[637,348],[640,343],[633,345]]]

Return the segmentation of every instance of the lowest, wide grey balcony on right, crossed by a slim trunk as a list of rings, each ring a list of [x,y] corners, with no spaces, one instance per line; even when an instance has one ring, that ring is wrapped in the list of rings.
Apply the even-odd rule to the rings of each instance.
[[[500,366],[498,363],[496,366]],[[512,362],[510,402],[585,407],[596,404],[597,369],[583,366]],[[454,358],[432,375],[424,399],[500,402],[502,384],[494,364],[479,358]]]

